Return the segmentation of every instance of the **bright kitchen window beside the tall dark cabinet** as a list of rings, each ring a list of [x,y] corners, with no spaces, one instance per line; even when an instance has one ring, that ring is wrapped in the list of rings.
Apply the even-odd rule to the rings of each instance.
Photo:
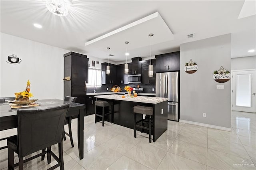
[[[86,87],[101,87],[101,69],[88,69],[88,83]]]

